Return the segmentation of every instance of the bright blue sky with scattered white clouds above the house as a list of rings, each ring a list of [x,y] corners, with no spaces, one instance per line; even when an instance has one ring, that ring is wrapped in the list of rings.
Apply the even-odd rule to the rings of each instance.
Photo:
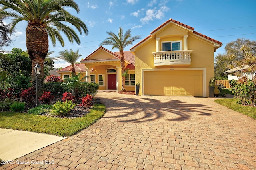
[[[106,39],[107,31],[117,33],[120,26],[124,31],[131,29],[132,35],[140,35],[142,39],[159,25],[172,18],[186,25],[194,27],[194,31],[221,41],[223,46],[216,52],[224,53],[226,43],[237,38],[256,40],[256,1],[255,0],[75,0],[80,7],[80,13],[75,10],[68,11],[86,23],[89,35],[80,35],[81,45],[69,43],[66,37],[65,46],[60,43],[56,47],[49,44],[50,51],[57,56],[64,49],[78,50],[85,58],[100,43]],[[6,21],[7,22],[7,21]],[[26,51],[26,21],[17,25],[15,36],[12,36],[13,47]],[[142,39],[134,42],[133,45]],[[111,50],[111,46],[104,46]],[[128,51],[132,46],[126,47]],[[113,49],[113,52],[118,49]],[[80,58],[80,59],[81,59]],[[65,67],[65,61],[56,61],[55,68]]]

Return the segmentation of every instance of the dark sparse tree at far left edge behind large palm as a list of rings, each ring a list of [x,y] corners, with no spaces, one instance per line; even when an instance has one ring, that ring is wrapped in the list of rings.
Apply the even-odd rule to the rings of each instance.
[[[0,52],[4,51],[2,47],[8,46],[12,39],[10,38],[10,25],[5,25],[4,18],[0,16]]]

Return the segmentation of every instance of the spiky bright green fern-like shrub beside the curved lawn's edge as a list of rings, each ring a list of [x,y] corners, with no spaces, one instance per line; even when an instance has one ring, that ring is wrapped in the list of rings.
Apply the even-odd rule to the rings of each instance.
[[[71,100],[66,102],[58,101],[52,106],[52,112],[58,115],[67,115],[75,106],[76,104],[73,104]]]

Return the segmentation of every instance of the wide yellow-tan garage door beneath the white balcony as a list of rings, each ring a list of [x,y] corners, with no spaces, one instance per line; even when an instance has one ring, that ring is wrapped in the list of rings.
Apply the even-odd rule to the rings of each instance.
[[[203,96],[203,72],[144,71],[144,95]]]

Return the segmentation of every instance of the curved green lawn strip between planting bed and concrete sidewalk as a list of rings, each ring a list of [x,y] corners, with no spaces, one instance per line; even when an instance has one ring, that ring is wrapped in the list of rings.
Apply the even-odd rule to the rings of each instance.
[[[72,136],[104,115],[106,106],[95,104],[90,113],[75,119],[46,117],[28,113],[0,112],[0,128],[16,129],[58,136]]]

